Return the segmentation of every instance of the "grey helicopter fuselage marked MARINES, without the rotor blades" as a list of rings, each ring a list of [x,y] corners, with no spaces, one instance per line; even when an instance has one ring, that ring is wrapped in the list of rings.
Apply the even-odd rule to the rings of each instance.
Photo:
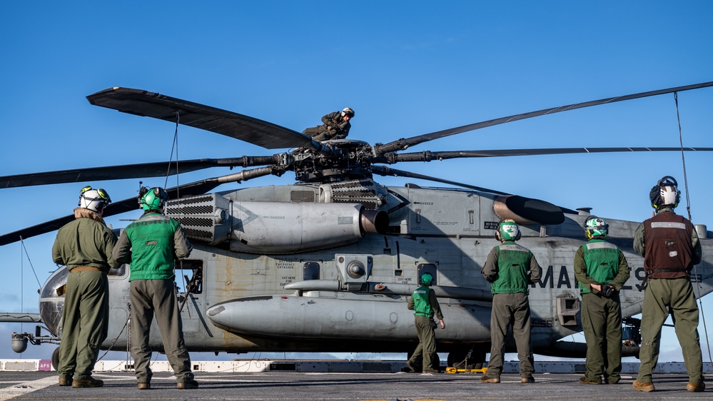
[[[529,213],[528,218],[537,219],[537,202],[520,202],[531,207],[517,210],[487,193],[387,188],[371,180],[246,188],[173,200],[167,214],[181,220],[195,248],[176,265],[186,345],[213,352],[409,352],[417,337],[406,304],[427,271],[435,278],[433,288],[447,322],[436,335],[439,350],[485,345],[491,297],[480,270],[498,243],[493,236],[497,221],[508,214],[520,219],[518,243],[532,250],[543,269],[540,282],[530,288],[533,347],[556,355],[557,340],[582,330],[572,265],[585,242],[586,215],[563,215],[556,225],[522,218]],[[547,205],[543,209],[550,212]],[[361,216],[369,210],[388,213],[388,228],[368,230],[365,226],[375,218]],[[632,249],[639,223],[607,222],[608,240],[624,250],[632,269],[621,296],[622,314],[629,317],[641,313],[643,300],[643,260]],[[702,244],[704,255],[713,254],[713,240],[702,239]],[[124,266],[109,279],[111,324],[105,348],[126,349],[129,271]],[[710,261],[704,260],[695,273],[697,296],[711,292]],[[58,300],[41,298],[41,305]],[[52,329],[46,319],[53,319],[44,317]],[[151,345],[161,350],[161,344],[153,327]]]

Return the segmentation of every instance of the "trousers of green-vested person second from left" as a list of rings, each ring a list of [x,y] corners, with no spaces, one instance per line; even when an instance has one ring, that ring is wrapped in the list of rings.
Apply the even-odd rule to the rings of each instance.
[[[173,280],[131,280],[131,357],[138,382],[151,382],[151,321],[156,312],[163,352],[176,375],[176,382],[193,380],[191,357],[183,342],[183,323],[178,313],[176,286]]]

